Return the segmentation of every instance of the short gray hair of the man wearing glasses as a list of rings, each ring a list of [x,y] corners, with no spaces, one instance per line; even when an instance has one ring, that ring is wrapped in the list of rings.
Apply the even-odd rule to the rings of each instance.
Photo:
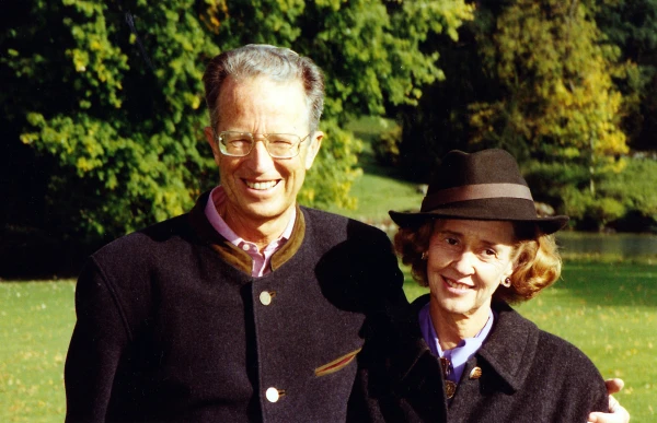
[[[266,44],[250,44],[224,51],[208,63],[203,82],[212,129],[219,125],[219,93],[228,77],[246,79],[268,77],[273,81],[300,81],[306,91],[309,126],[315,131],[324,109],[324,75],[309,58],[289,48]]]

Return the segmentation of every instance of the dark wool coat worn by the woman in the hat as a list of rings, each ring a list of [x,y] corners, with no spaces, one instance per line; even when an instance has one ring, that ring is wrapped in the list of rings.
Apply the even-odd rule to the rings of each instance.
[[[493,306],[493,329],[448,400],[440,363],[419,330],[428,301],[390,313],[388,328],[359,355],[350,421],[584,423],[607,411],[604,380],[590,360],[507,304]]]

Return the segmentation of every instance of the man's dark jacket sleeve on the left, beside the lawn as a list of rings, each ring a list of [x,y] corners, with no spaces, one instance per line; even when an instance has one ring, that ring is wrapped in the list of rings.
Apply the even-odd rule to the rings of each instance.
[[[76,313],[65,367],[66,421],[104,422],[128,336],[112,292],[92,261],[78,279]]]

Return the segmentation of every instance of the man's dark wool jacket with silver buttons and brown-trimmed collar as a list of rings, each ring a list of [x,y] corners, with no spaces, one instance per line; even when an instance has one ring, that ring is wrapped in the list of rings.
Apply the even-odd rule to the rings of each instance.
[[[207,198],[89,259],[67,421],[346,419],[365,328],[405,302],[388,237],[298,208],[273,271],[252,278],[249,255],[207,221]]]

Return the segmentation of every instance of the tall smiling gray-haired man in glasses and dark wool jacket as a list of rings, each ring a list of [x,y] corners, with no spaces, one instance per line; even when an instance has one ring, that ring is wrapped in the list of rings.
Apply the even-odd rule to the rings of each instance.
[[[322,73],[250,45],[204,82],[221,185],[89,259],[67,421],[344,421],[365,333],[405,297],[382,232],[296,202]]]

